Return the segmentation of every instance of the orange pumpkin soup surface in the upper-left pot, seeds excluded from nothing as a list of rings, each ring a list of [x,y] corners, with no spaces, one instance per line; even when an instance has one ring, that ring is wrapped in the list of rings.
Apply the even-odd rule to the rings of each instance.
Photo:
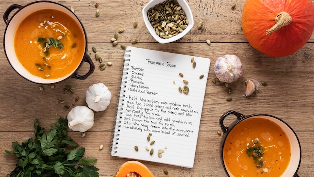
[[[14,47],[18,60],[31,74],[57,79],[77,69],[85,52],[85,38],[69,15],[43,9],[19,24]]]

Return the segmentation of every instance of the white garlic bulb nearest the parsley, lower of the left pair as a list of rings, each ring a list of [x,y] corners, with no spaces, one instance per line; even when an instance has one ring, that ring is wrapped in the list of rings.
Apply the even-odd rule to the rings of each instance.
[[[68,126],[73,131],[86,132],[94,125],[94,112],[87,106],[76,106],[68,113]]]

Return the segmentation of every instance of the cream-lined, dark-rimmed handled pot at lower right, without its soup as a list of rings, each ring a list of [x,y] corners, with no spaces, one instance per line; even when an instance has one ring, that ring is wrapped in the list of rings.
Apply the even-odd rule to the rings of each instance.
[[[224,116],[226,117],[229,114],[236,115],[238,120],[234,121],[231,124],[231,127],[229,128],[229,127],[225,127],[224,125],[222,125],[221,119],[223,118],[223,116],[220,119],[220,125],[222,128],[222,131],[225,132],[225,134],[223,135],[224,137],[222,138],[222,141],[221,141],[221,154],[220,154],[220,156],[221,156],[222,165],[223,165],[223,167],[226,171],[226,174],[228,176],[233,176],[233,175],[229,172],[229,170],[226,168],[226,166],[224,164],[224,160],[223,160],[224,142],[226,141],[228,134],[232,131],[232,129],[235,126],[237,126],[238,123],[245,121],[247,119],[250,119],[250,118],[255,118],[255,117],[269,119],[272,122],[279,125],[287,133],[287,136],[290,140],[290,145],[291,145],[291,159],[290,159],[289,165],[287,166],[287,168],[286,168],[286,170],[282,176],[291,176],[291,174],[293,174],[294,177],[298,176],[297,171],[301,165],[301,144],[300,144],[300,141],[299,141],[296,133],[294,132],[294,130],[286,122],[284,122],[283,120],[281,120],[275,116],[269,115],[269,114],[252,114],[249,116],[244,116],[244,115],[237,113],[235,111],[229,111],[226,114],[224,114]],[[240,118],[238,117],[239,115],[241,115]]]

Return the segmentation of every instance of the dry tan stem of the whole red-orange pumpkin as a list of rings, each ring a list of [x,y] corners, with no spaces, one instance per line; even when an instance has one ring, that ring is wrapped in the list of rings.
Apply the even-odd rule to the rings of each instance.
[[[266,30],[266,35],[269,35],[277,30],[279,30],[283,26],[287,26],[292,22],[292,17],[287,12],[280,12],[275,17],[276,24],[272,26],[270,29]]]

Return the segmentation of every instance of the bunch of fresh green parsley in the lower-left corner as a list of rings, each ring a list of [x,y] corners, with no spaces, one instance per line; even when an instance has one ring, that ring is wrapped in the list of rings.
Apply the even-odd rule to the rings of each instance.
[[[5,150],[18,158],[16,168],[7,176],[98,176],[99,169],[91,165],[97,159],[83,157],[85,148],[76,148],[79,145],[67,136],[67,122],[67,118],[59,118],[45,133],[36,120],[35,139],[30,138],[21,145],[13,142],[15,150]],[[69,150],[68,145],[75,148]]]

